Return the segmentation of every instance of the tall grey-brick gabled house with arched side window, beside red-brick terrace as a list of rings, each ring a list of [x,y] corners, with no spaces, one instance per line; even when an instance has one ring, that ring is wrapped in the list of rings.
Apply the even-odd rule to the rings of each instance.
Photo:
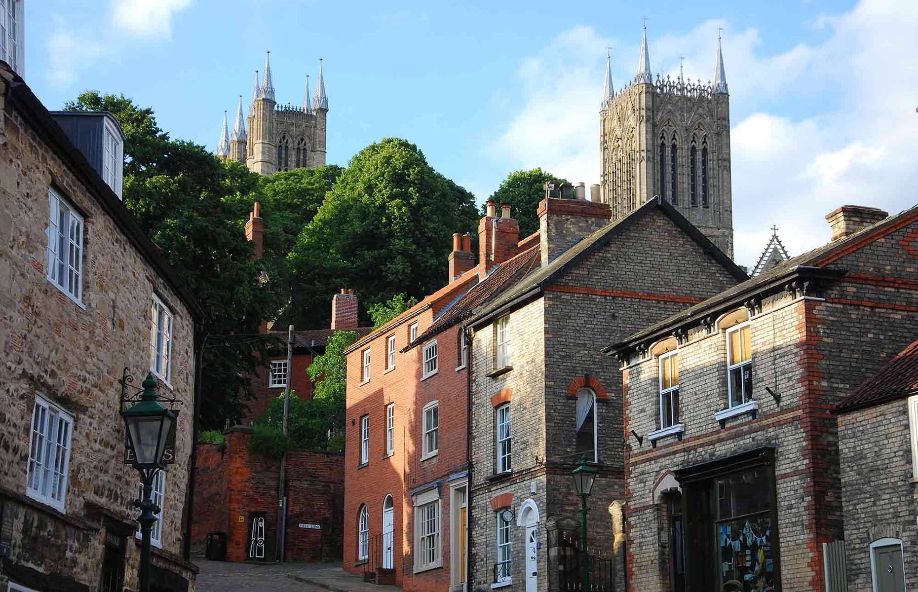
[[[621,552],[612,531],[625,497],[621,376],[599,351],[610,334],[746,279],[660,199],[613,222],[608,204],[565,199],[568,191],[546,186],[539,266],[464,323],[473,336],[470,590],[561,589],[548,554],[554,529],[579,528],[570,472],[581,456],[599,470],[590,548]]]

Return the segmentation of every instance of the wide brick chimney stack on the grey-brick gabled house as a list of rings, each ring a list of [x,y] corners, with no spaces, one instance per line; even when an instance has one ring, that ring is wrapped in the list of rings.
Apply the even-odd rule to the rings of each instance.
[[[588,234],[610,223],[609,204],[587,201],[587,187],[565,183],[544,184],[545,198],[539,203],[539,242],[542,265]],[[590,191],[595,195],[595,191]]]

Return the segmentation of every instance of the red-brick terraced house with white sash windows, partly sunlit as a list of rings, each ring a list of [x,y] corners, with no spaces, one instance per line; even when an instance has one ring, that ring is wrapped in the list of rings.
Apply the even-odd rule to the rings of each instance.
[[[348,571],[407,590],[463,589],[469,378],[460,323],[538,264],[538,233],[520,240],[509,207],[501,213],[488,203],[478,265],[471,237],[454,234],[449,283],[347,352]]]

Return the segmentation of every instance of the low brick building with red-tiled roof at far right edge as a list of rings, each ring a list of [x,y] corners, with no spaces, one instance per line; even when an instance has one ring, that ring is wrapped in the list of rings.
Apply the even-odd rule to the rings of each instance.
[[[879,592],[918,587],[918,341],[835,408],[845,514],[838,582]],[[839,589],[842,589],[839,586]]]

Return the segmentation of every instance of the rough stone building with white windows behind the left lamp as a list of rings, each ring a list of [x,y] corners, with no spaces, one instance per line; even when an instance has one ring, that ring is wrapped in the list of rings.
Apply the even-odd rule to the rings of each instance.
[[[3,62],[0,107],[0,589],[137,586],[140,486],[124,463],[119,381],[152,371],[161,395],[182,401],[175,462],[156,486],[152,579],[191,590],[185,512],[203,312],[115,185]]]

